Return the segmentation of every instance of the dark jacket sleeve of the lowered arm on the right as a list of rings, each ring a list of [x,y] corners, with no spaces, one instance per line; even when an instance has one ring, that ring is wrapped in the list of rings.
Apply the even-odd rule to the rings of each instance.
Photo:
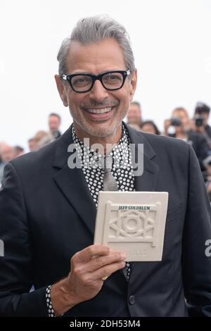
[[[188,201],[184,223],[182,270],[189,316],[211,316],[210,201],[196,154],[189,146]]]

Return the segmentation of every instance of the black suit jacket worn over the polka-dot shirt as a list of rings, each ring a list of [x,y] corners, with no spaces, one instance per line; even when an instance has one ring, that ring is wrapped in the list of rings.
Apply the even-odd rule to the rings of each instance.
[[[129,128],[144,144],[137,191],[167,191],[162,261],[132,263],[94,299],[65,316],[211,316],[210,203],[198,160],[179,139]],[[68,168],[70,128],[43,149],[6,165],[0,191],[0,315],[47,316],[46,286],[68,275],[70,258],[93,244],[96,206],[81,169]],[[34,292],[30,287],[34,285]],[[185,304],[185,299],[187,304]]]

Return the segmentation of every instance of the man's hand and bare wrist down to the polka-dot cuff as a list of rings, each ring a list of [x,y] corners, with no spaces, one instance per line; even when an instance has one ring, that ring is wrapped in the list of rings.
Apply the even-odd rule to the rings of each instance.
[[[51,286],[51,302],[56,316],[90,300],[100,292],[102,277],[124,268],[126,256],[100,244],[77,252],[70,260],[68,277]]]

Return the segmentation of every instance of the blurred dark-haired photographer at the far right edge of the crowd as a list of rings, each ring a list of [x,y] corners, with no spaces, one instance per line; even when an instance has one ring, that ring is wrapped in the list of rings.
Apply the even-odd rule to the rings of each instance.
[[[198,102],[195,108],[192,129],[205,137],[211,151],[211,127],[208,125],[209,115],[210,107],[202,102]]]

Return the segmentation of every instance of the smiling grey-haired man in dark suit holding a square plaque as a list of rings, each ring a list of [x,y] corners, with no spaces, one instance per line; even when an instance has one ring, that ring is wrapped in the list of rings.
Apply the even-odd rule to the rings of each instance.
[[[84,18],[63,42],[58,61],[56,84],[73,125],[55,142],[6,165],[0,314],[210,316],[210,206],[198,161],[186,142],[122,124],[136,89],[127,32],[107,17]],[[68,165],[72,143],[84,156],[97,153],[84,138],[103,149],[143,144],[143,175],[135,177],[134,163],[128,163],[113,167],[111,177],[120,190],[169,192],[162,261],[125,266],[123,252],[93,245],[106,168]]]

